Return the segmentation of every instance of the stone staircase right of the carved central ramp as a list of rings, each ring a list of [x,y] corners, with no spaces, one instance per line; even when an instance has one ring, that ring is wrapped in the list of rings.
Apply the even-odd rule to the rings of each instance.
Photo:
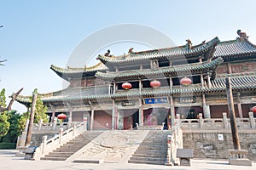
[[[128,163],[165,165],[167,155],[167,135],[170,131],[151,130]]]

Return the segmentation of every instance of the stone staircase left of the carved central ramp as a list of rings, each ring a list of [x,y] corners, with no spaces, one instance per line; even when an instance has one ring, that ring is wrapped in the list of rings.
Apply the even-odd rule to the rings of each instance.
[[[95,139],[102,132],[100,131],[86,131],[80,134],[77,138],[63,144],[60,148],[53,150],[48,155],[41,157],[40,160],[50,161],[65,161],[69,156],[72,156],[75,152],[89,144],[91,140]]]

